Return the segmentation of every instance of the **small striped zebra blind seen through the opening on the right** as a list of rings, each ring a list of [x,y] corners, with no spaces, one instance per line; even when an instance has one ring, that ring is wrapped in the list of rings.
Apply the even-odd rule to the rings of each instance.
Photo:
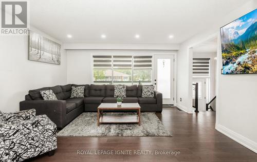
[[[210,76],[210,58],[193,58],[193,76]]]

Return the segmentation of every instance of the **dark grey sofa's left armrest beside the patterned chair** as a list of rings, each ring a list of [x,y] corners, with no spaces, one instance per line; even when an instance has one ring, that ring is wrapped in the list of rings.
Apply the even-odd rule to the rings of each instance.
[[[36,115],[46,114],[58,128],[65,126],[65,100],[24,100],[20,102],[20,110],[28,109],[35,109]]]

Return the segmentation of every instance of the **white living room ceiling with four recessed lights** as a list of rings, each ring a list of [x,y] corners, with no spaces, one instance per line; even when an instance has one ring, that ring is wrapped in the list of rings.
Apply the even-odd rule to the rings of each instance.
[[[31,0],[30,20],[63,43],[179,44],[246,1]]]

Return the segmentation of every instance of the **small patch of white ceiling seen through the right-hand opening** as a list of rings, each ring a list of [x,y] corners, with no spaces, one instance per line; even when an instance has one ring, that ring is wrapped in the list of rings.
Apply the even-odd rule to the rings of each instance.
[[[210,53],[217,52],[217,38],[208,40],[193,47],[194,53]]]

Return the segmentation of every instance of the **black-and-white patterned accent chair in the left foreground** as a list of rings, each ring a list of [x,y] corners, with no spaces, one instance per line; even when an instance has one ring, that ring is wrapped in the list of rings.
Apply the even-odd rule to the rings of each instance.
[[[35,116],[35,109],[0,111],[0,161],[23,161],[57,149],[57,127],[46,116]]]

